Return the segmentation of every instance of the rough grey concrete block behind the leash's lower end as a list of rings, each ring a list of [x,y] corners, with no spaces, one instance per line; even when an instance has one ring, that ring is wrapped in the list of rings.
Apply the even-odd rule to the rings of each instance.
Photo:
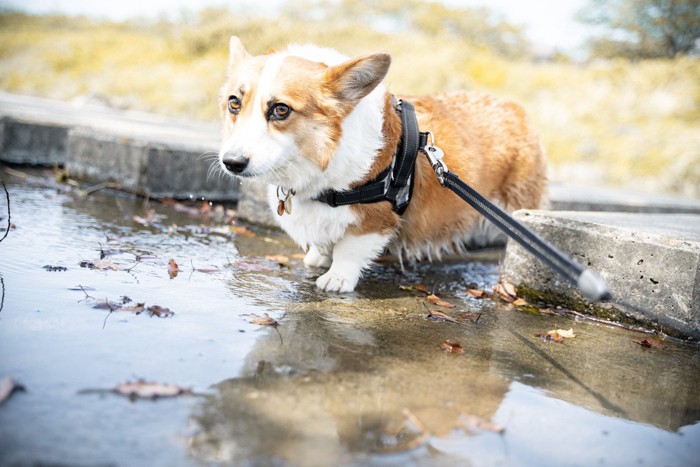
[[[575,287],[509,240],[502,273],[536,295],[608,317],[700,338],[700,215],[517,211],[516,219],[608,283],[590,304]]]

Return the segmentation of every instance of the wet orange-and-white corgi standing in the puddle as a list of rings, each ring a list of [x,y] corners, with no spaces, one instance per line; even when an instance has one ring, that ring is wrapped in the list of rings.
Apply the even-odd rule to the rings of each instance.
[[[328,292],[353,291],[385,250],[401,261],[432,260],[498,236],[440,185],[421,154],[401,214],[386,200],[335,207],[319,200],[375,180],[394,163],[402,121],[382,82],[390,63],[384,53],[349,58],[313,45],[253,56],[237,37],[230,41],[220,167],[269,185],[270,207],[306,251],[304,264],[327,268],[316,285]],[[521,107],[475,92],[407,100],[451,172],[506,211],[542,205],[545,158]]]

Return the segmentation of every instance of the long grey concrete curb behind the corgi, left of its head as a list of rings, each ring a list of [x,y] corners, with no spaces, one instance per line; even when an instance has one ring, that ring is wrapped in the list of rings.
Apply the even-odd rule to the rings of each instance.
[[[72,177],[154,197],[238,200],[239,183],[206,160],[218,151],[213,124],[1,92],[0,116],[2,162],[65,166]]]

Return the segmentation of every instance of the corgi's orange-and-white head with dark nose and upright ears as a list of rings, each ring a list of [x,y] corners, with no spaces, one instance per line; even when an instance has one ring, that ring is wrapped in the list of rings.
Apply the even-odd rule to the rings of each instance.
[[[250,55],[231,38],[222,88],[222,168],[241,177],[296,187],[322,174],[342,123],[389,69],[387,54],[347,59],[318,47]]]

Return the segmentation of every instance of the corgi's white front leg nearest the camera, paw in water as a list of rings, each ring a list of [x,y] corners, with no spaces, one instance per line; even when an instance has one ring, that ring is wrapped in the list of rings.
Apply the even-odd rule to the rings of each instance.
[[[379,256],[390,239],[390,235],[378,233],[341,238],[333,248],[331,268],[316,280],[316,287],[327,292],[352,292],[362,270]]]

